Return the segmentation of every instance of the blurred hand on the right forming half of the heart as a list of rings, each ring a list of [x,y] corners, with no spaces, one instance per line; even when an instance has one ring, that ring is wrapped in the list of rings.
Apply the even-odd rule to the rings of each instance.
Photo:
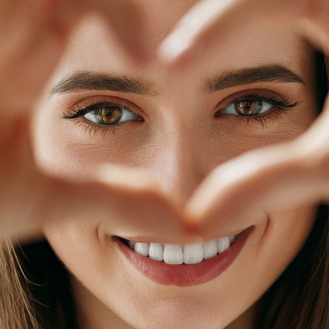
[[[248,19],[244,19],[244,18]],[[301,34],[329,48],[329,1],[213,1],[196,4],[159,48],[170,67],[188,69],[209,51],[216,51],[237,25],[250,20],[296,24]],[[197,22],[197,24],[195,23]],[[239,22],[237,24],[236,22]],[[218,42],[220,40],[221,42]],[[224,41],[223,41],[224,40]],[[242,227],[244,220],[272,209],[329,199],[329,104],[299,139],[244,154],[215,169],[196,190],[186,208],[187,225],[206,240],[225,225]],[[236,195],[243,195],[236,203]],[[223,220],[221,220],[223,218]],[[237,224],[239,223],[239,224]]]

